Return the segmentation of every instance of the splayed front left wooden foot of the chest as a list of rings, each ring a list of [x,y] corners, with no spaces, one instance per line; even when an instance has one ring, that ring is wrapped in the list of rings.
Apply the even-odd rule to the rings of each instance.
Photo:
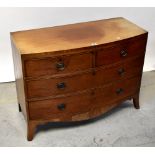
[[[27,123],[27,140],[28,141],[32,141],[33,136],[35,134],[35,130],[36,130],[36,123],[33,121],[29,121]]]

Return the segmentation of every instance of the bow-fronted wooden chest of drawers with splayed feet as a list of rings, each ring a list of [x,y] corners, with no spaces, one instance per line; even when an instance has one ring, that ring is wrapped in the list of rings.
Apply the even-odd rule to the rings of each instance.
[[[11,33],[28,140],[38,124],[91,119],[128,99],[138,109],[147,36],[120,17]]]

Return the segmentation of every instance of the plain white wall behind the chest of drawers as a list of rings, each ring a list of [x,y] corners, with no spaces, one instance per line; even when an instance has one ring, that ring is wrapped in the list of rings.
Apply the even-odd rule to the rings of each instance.
[[[112,17],[149,31],[144,71],[155,69],[155,8],[0,8],[0,82],[14,81],[9,33]]]

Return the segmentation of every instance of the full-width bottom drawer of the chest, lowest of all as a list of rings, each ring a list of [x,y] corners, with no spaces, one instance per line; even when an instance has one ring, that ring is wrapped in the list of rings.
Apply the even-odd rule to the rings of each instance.
[[[89,119],[95,107],[104,108],[111,102],[135,93],[140,86],[140,77],[112,83],[104,88],[92,89],[90,92],[75,96],[29,102],[31,119],[54,119],[57,121]],[[86,114],[82,118],[76,115]],[[76,119],[75,119],[76,118]]]

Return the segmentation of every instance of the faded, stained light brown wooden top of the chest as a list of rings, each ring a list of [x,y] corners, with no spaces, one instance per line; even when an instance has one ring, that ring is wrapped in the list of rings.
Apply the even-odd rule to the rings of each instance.
[[[11,33],[11,38],[21,54],[33,54],[106,44],[144,33],[146,33],[144,29],[118,17],[17,31]]]

